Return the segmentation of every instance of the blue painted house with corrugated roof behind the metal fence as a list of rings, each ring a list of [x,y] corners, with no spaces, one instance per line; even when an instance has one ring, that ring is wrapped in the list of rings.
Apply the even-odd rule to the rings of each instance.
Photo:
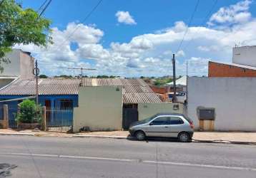
[[[64,118],[72,125],[72,111],[74,107],[78,107],[79,83],[79,79],[39,79],[39,104],[46,106],[46,117],[50,124],[53,120]],[[4,101],[0,103],[0,108],[4,104],[9,105],[9,111],[11,111],[9,120],[15,122],[13,113],[17,111],[18,104],[22,102],[23,98],[35,95],[36,82],[34,79],[16,79],[0,89],[0,100]]]

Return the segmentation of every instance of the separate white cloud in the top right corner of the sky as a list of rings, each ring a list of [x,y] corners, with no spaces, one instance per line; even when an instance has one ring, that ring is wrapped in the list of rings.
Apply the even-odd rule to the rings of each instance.
[[[242,23],[250,19],[251,14],[248,11],[252,1],[245,0],[237,2],[237,4],[230,5],[228,7],[222,7],[215,14],[212,14],[209,25],[215,23]]]

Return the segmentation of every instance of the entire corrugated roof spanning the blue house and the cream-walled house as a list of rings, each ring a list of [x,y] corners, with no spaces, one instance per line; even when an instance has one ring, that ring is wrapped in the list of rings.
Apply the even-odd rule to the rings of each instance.
[[[78,95],[80,79],[39,79],[39,95]],[[36,80],[18,79],[0,89],[0,95],[36,95]],[[142,79],[83,78],[82,86],[123,86],[123,103],[161,103]]]

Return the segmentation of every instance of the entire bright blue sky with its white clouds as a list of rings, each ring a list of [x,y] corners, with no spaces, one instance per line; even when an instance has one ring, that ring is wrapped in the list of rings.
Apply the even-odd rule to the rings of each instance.
[[[83,24],[97,0],[52,0],[44,17],[52,21],[54,46],[18,47],[32,52],[47,75],[77,75],[66,68],[80,66],[97,68],[89,75],[171,75],[174,52],[178,75],[184,75],[186,62],[189,75],[207,75],[207,61],[232,61],[235,43],[256,45],[255,1],[215,1],[200,0],[187,28],[197,0],[103,0]],[[19,2],[37,10],[44,0]]]

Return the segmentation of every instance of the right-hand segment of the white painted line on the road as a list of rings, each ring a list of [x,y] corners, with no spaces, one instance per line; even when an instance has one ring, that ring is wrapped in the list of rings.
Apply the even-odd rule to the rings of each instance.
[[[227,167],[227,166],[217,166],[211,164],[192,164],[192,163],[184,163],[184,162],[157,162],[157,161],[142,161],[146,163],[154,163],[154,164],[170,164],[177,166],[189,166],[189,167],[208,167],[208,168],[217,168],[217,169],[235,169],[235,170],[247,170],[247,171],[256,171],[254,167]]]

